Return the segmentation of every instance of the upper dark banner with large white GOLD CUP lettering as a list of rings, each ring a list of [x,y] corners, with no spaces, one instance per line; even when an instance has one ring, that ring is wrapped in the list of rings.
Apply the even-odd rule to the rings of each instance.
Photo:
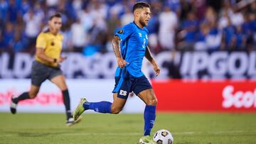
[[[107,78],[113,79],[116,58],[113,52],[97,53],[85,57],[81,53],[69,52],[62,63],[67,78]],[[182,79],[256,79],[256,52],[176,52],[172,60],[171,52],[154,55],[159,63],[161,74],[157,79],[175,77],[171,70],[176,69]],[[0,78],[28,78],[31,75],[33,56],[26,53],[0,55]],[[154,77],[154,70],[145,63],[142,71]]]

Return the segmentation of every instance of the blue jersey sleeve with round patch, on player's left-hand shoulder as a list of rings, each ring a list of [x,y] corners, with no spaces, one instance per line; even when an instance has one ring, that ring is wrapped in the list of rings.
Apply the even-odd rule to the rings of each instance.
[[[121,40],[126,40],[134,32],[134,27],[131,24],[117,28],[114,35],[117,35]]]

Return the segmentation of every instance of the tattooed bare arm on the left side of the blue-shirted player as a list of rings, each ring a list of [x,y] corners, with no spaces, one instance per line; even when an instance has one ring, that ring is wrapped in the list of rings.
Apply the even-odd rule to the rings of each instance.
[[[120,68],[123,68],[128,62],[126,62],[121,55],[120,51],[120,38],[118,36],[115,36],[112,40],[112,47],[114,50],[114,55],[117,57],[117,65]]]

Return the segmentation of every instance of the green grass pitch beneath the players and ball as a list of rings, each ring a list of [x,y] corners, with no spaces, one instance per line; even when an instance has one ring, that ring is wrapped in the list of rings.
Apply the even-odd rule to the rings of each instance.
[[[67,127],[63,113],[0,113],[0,143],[131,144],[143,133],[142,114],[82,116]],[[157,113],[152,132],[162,128],[176,144],[256,144],[256,113]]]

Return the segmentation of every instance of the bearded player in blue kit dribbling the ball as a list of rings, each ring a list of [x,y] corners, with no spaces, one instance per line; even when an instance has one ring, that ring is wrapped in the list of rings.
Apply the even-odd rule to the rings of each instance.
[[[146,57],[154,67],[156,76],[160,69],[151,56],[148,44],[148,31],[145,26],[149,23],[150,6],[145,2],[137,2],[133,6],[134,22],[119,28],[112,40],[114,54],[117,57],[113,103],[108,101],[89,102],[82,98],[74,112],[74,119],[88,109],[100,113],[117,114],[122,111],[129,92],[134,92],[146,104],[144,109],[144,136],[140,142],[154,143],[149,136],[156,118],[157,99],[154,91],[142,72],[142,60]]]

